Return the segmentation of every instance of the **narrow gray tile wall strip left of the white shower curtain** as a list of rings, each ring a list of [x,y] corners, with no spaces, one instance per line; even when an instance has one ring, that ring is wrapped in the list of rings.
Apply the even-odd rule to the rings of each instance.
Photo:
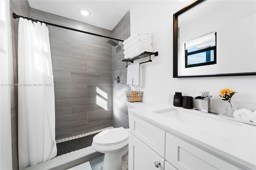
[[[30,17],[28,0],[10,0],[10,83],[18,83],[18,20],[12,13]],[[11,87],[12,169],[18,170],[18,87]]]

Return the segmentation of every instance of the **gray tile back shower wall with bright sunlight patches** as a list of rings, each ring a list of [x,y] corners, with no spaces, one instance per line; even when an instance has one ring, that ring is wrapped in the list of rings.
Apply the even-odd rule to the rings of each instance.
[[[111,37],[104,28],[31,8],[31,18]],[[112,126],[112,46],[108,39],[48,26],[56,140]]]

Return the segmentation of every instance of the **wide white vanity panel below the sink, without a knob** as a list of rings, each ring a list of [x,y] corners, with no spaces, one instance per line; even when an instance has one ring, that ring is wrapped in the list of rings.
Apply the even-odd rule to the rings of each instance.
[[[240,168],[193,144],[166,133],[165,159],[182,170],[238,170]]]

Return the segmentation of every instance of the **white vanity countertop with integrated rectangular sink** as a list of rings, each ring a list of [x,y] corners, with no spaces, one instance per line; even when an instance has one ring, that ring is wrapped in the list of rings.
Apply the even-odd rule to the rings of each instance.
[[[156,113],[156,111],[171,108],[183,111],[183,116],[190,119],[186,121],[191,121],[191,123]],[[254,125],[223,119],[219,115],[174,107],[171,104],[129,109],[129,114],[141,117],[169,132],[186,138],[231,162],[256,169],[256,126]],[[204,120],[204,123],[199,122],[196,123],[196,126],[193,125],[193,121],[200,120]]]

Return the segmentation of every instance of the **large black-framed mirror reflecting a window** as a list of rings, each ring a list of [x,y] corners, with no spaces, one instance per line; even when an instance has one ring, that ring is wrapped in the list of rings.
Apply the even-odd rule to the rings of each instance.
[[[256,75],[255,30],[256,1],[192,2],[173,15],[173,77]],[[201,42],[192,46],[190,42],[212,32],[216,33],[216,63],[196,64],[207,63],[207,50]],[[211,48],[208,40],[204,38],[205,48]],[[188,58],[187,44],[202,53]],[[187,67],[190,64],[198,67]]]

